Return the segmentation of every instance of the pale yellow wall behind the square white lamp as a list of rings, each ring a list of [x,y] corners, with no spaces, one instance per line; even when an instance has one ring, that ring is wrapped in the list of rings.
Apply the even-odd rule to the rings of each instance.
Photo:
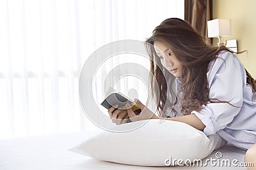
[[[238,50],[248,50],[237,55],[244,67],[256,78],[256,1],[212,0],[212,19],[231,19],[232,35],[226,39],[237,39]],[[217,38],[214,38],[216,43]]]

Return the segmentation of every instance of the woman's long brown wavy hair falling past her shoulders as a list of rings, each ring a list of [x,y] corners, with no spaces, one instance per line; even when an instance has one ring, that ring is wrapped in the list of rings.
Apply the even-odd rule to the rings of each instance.
[[[180,109],[183,115],[189,115],[193,110],[200,111],[201,105],[206,105],[208,102],[230,104],[230,101],[209,99],[209,85],[206,73],[209,62],[216,60],[218,53],[223,50],[234,52],[225,46],[207,45],[204,39],[188,22],[179,18],[168,18],[158,25],[154,29],[152,36],[145,41],[145,46],[150,56],[151,93],[155,98],[159,115],[161,115],[161,111],[163,111],[166,104],[168,87],[164,77],[164,73],[167,71],[164,70],[159,57],[156,57],[155,41],[161,41],[171,49],[182,65],[182,76],[179,80],[182,82],[180,85],[180,91],[182,91]],[[246,71],[246,82],[252,85],[253,90],[256,91],[256,81],[248,71]],[[157,90],[159,95],[156,94]],[[175,94],[175,92],[172,92],[172,94]],[[176,104],[177,97],[172,102]]]

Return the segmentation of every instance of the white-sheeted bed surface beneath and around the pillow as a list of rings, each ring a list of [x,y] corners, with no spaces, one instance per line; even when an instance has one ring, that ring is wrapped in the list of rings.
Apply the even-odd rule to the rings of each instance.
[[[104,162],[70,152],[72,148],[95,132],[68,132],[44,136],[31,136],[0,140],[0,169],[246,169],[241,167],[244,161],[244,150],[232,145],[225,145],[206,157],[207,166],[194,165],[185,167],[143,167]],[[219,157],[221,154],[221,158]],[[216,160],[211,162],[211,160]],[[225,163],[228,159],[232,163]],[[224,163],[221,163],[224,162]],[[214,163],[215,162],[215,163]]]

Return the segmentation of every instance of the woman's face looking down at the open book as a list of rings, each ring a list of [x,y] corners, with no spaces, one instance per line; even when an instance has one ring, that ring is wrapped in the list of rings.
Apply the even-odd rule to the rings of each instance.
[[[170,50],[160,41],[154,42],[154,48],[164,68],[172,73],[173,76],[180,77],[182,75],[182,66],[172,50]]]

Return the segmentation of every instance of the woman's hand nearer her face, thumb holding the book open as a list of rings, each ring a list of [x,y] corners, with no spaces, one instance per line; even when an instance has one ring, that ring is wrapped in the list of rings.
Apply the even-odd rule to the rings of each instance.
[[[134,113],[134,111],[132,111],[132,106],[131,104],[127,104],[128,106],[128,116],[130,118],[130,120],[132,122],[136,122],[139,120],[147,120],[147,119],[156,119],[159,118],[155,115],[155,113],[153,113],[152,111],[150,111],[144,104],[142,104],[138,99],[135,99],[136,104],[141,108],[141,113],[140,115],[136,115],[136,113]]]

